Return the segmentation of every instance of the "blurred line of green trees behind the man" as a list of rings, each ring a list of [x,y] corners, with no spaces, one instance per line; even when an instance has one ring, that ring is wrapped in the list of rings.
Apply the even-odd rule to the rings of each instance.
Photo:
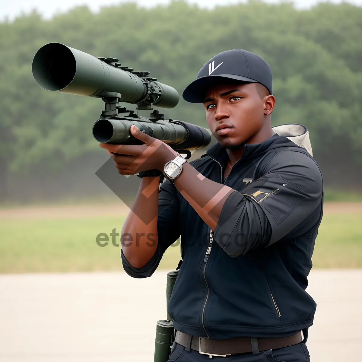
[[[49,42],[119,58],[122,66],[149,71],[180,95],[212,56],[236,48],[254,52],[273,71],[277,100],[273,125],[306,125],[325,184],[359,188],[361,39],[362,8],[350,4],[296,10],[292,4],[252,0],[208,10],[183,1],[152,9],[128,3],[104,7],[96,14],[77,7],[51,20],[34,11],[4,21],[0,23],[1,198],[22,195],[30,200],[32,188],[42,182],[54,185],[49,197],[55,197],[54,190],[62,197],[67,190],[56,185],[59,174],[80,172],[83,159],[97,159],[104,151],[91,134],[104,107],[101,100],[47,92],[35,83],[33,56]],[[181,100],[176,108],[159,111],[207,127],[201,105]],[[28,178],[33,186],[27,184]],[[13,180],[21,192],[14,189]]]

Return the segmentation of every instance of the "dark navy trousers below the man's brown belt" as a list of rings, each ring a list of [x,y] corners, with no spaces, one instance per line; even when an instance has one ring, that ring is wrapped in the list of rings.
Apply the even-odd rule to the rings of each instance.
[[[174,343],[167,362],[310,362],[307,346],[301,342],[294,346],[260,352],[242,353],[226,357],[212,357]]]

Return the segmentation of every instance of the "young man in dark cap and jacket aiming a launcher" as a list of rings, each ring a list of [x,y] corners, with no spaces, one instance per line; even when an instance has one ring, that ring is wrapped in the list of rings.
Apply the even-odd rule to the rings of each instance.
[[[214,56],[183,97],[203,103],[218,141],[200,159],[188,163],[134,126],[142,146],[101,144],[119,173],[144,176],[122,234],[147,238],[123,244],[124,268],[151,276],[181,236],[169,362],[309,361],[316,303],[305,289],[323,181],[308,131],[271,127],[270,67],[245,50]],[[159,193],[161,172],[168,180]]]

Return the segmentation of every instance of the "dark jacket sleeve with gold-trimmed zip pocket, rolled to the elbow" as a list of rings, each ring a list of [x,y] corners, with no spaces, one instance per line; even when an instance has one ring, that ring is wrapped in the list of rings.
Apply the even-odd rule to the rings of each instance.
[[[231,257],[267,247],[306,222],[320,217],[323,181],[313,159],[289,149],[275,155],[262,176],[229,195],[214,239]],[[313,213],[313,218],[308,217]],[[316,215],[316,216],[314,216]]]

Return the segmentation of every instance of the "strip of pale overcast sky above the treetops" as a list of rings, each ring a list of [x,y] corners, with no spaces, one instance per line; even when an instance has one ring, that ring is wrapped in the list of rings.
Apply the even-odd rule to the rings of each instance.
[[[203,8],[213,8],[215,5],[237,4],[240,0],[187,0],[188,3],[198,4]],[[268,3],[278,3],[278,0],[264,0]],[[24,12],[28,14],[32,9],[37,9],[44,18],[49,19],[56,12],[66,12],[77,5],[88,5],[97,12],[100,7],[119,3],[136,2],[142,7],[153,7],[157,4],[168,4],[170,0],[0,0],[0,21],[6,16],[13,20]],[[297,8],[310,8],[319,0],[294,0]],[[341,0],[329,0],[331,3],[341,3]],[[362,0],[348,0],[347,2],[362,6]]]

